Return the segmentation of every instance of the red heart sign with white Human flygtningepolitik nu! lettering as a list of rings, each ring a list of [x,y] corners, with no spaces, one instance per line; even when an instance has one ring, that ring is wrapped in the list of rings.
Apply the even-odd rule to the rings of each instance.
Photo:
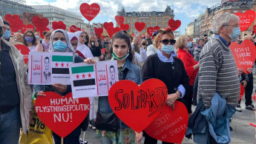
[[[56,92],[45,92],[37,97],[36,114],[59,137],[66,137],[79,126],[90,110],[88,98],[72,98],[72,93],[62,97]]]

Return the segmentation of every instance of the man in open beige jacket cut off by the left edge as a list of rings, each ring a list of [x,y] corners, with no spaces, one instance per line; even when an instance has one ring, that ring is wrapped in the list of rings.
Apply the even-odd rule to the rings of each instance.
[[[23,55],[2,38],[6,29],[0,16],[0,143],[19,143],[22,127],[27,133],[33,101]]]

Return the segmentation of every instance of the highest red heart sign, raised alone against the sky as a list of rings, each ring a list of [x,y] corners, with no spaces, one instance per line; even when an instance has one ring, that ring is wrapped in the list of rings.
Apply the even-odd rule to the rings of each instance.
[[[98,14],[99,14],[99,4],[93,3],[93,4],[87,4],[83,3],[80,5],[80,12],[82,13],[82,16],[84,16],[88,21],[93,20]]]

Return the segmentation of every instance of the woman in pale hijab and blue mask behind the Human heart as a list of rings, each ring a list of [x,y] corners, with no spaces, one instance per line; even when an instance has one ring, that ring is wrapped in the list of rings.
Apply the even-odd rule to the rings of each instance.
[[[72,52],[73,53],[73,62],[74,63],[80,63],[85,62],[87,64],[95,63],[93,58],[88,58],[83,60],[81,57],[76,56],[76,53],[71,46],[71,44],[68,42],[68,34],[65,32],[65,30],[54,30],[52,34],[50,35],[50,52]],[[45,96],[44,92],[57,92],[59,95],[67,95],[69,92],[71,92],[71,86],[70,85],[64,85],[62,83],[54,83],[53,85],[47,85],[47,86],[35,86],[35,92],[36,96]],[[79,144],[79,136],[81,134],[81,126],[78,126],[75,130],[73,130],[70,134],[68,134],[67,137],[64,138],[64,144]],[[53,133],[53,139],[56,144],[61,143],[61,137],[59,137],[57,134]]]

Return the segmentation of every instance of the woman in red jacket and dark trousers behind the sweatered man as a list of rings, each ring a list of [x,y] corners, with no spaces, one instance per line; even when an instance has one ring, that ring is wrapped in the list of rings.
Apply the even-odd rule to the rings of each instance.
[[[185,66],[186,72],[189,77],[189,87],[186,91],[186,95],[188,95],[187,99],[183,100],[183,103],[185,104],[186,108],[188,109],[188,115],[191,116],[192,110],[191,110],[191,104],[192,104],[192,95],[193,95],[193,86],[194,86],[194,80],[197,77],[197,72],[199,68],[198,61],[194,61],[193,56],[190,52],[188,52],[188,48],[191,47],[192,42],[190,38],[187,35],[180,36],[180,38],[177,39],[176,47],[177,47],[177,58],[180,58],[181,61],[183,61],[183,64]]]

